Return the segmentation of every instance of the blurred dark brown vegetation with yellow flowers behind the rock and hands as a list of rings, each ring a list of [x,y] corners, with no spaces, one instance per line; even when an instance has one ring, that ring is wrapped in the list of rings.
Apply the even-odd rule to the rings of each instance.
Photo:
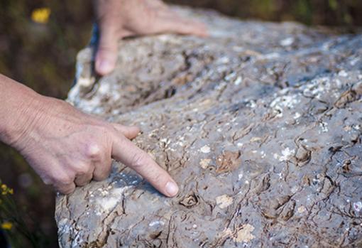
[[[349,32],[362,26],[361,0],[168,2],[216,9],[242,19],[299,21],[308,26],[339,26]],[[0,73],[43,95],[64,99],[75,75],[75,56],[87,45],[91,29],[89,1],[3,0],[0,2]],[[43,185],[26,161],[4,144],[0,144],[0,163],[1,182],[14,190],[13,194],[4,195],[12,198],[18,207],[11,211],[23,221],[19,225],[25,226],[28,235],[41,236],[41,240],[29,241],[16,225],[11,226],[9,213],[6,215],[0,201],[1,232],[16,239],[21,247],[34,246],[34,242],[36,247],[57,247],[53,190]],[[19,221],[16,218],[11,221]]]

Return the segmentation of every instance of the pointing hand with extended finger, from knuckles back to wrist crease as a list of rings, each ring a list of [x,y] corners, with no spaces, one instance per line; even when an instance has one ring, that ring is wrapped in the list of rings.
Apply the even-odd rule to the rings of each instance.
[[[104,122],[50,97],[40,96],[32,103],[23,111],[31,119],[12,145],[44,183],[60,193],[72,193],[76,185],[109,176],[113,157],[164,195],[177,194],[170,175],[129,140],[139,133],[137,127]]]

